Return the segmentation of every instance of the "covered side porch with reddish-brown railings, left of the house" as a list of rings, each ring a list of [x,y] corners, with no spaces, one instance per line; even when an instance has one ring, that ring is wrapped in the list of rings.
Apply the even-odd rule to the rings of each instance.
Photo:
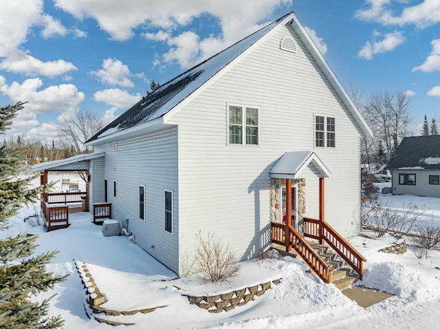
[[[33,172],[41,172],[42,185],[58,181],[55,192],[41,194],[41,213],[47,231],[69,227],[69,214],[74,212],[92,212],[93,223],[96,224],[111,218],[111,203],[91,201],[90,161],[98,157],[104,157],[104,153],[77,155],[32,166]],[[65,178],[72,172],[77,174],[75,181]],[[55,173],[56,179],[50,179],[50,175]]]

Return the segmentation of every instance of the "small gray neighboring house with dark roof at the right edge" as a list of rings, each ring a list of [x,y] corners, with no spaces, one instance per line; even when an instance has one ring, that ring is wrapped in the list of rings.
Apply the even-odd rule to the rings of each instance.
[[[440,135],[405,137],[387,168],[393,171],[393,194],[440,198]]]

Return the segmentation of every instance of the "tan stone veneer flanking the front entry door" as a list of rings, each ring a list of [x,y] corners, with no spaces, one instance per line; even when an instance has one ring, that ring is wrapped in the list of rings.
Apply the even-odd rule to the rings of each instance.
[[[285,179],[274,179],[270,180],[270,220],[272,222],[281,223],[280,218],[280,186],[285,185]],[[292,186],[297,185],[298,191],[298,229],[300,234],[303,234],[304,220],[305,216],[305,179],[292,179]]]

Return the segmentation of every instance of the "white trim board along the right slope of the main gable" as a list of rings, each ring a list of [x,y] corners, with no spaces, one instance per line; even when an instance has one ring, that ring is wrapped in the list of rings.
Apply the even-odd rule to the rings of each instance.
[[[325,60],[324,56],[322,56],[321,52],[319,51],[318,47],[316,47],[314,41],[311,40],[309,34],[307,34],[305,28],[296,18],[296,15],[292,13],[294,16],[294,23],[298,27],[298,29],[302,32],[304,38],[307,42],[305,42],[305,45],[309,45],[311,48],[311,54],[316,60],[316,63],[318,63],[319,67],[322,69],[322,71],[325,73],[325,76],[327,76],[327,79],[329,79],[329,82],[333,84],[333,87],[336,90],[336,93],[340,95],[340,98],[342,99],[342,102],[344,102],[345,106],[353,113],[353,116],[355,117],[356,122],[360,125],[360,128],[362,129],[365,137],[373,137],[373,131],[371,131],[371,128],[364,120],[364,117],[360,114],[360,111],[358,108],[353,104],[353,101],[347,94],[347,91],[345,91],[344,87],[342,87],[342,84],[336,77],[336,74],[331,70],[329,65],[327,64],[327,61]],[[294,24],[292,23],[292,25]],[[300,34],[298,34],[300,35]],[[309,48],[308,47],[308,48]]]

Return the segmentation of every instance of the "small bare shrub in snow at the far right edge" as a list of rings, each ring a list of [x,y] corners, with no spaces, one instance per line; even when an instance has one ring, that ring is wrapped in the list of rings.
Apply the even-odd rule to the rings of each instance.
[[[411,242],[417,258],[428,258],[428,250],[440,250],[440,227],[433,220],[421,222]]]

